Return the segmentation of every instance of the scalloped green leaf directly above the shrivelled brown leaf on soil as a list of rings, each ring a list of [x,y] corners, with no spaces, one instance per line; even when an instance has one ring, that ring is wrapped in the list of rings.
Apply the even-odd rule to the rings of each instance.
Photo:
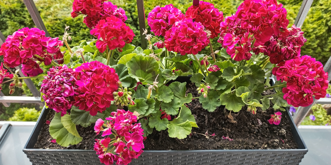
[[[219,100],[221,100],[221,104],[225,105],[225,108],[231,110],[233,112],[239,112],[241,108],[244,106],[243,100],[236,96],[235,93],[223,93]]]

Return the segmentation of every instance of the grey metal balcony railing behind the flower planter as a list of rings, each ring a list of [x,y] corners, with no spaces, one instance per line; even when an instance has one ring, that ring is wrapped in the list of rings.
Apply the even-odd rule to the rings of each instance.
[[[29,12],[29,14],[32,17],[32,20],[37,28],[40,30],[44,30],[47,37],[50,37],[46,26],[44,22],[41,19],[41,16],[37,10],[36,5],[34,4],[33,0],[23,0],[24,4]],[[303,25],[305,18],[308,14],[308,11],[310,9],[310,6],[312,4],[313,0],[303,0],[302,5],[300,7],[299,13],[297,15],[297,18],[295,19],[294,24],[297,27],[300,27]],[[199,0],[193,0],[193,5],[199,5]],[[137,9],[138,9],[138,19],[139,19],[139,28],[140,28],[140,39],[141,39],[141,45],[143,49],[147,48],[147,40],[142,35],[144,32],[144,29],[146,29],[146,18],[145,18],[145,8],[144,8],[144,1],[143,0],[137,0]],[[5,42],[5,37],[0,31],[0,44]],[[19,69],[19,67],[16,67],[16,69]],[[331,57],[329,58],[328,62],[326,63],[324,67],[324,71],[329,73],[329,81],[331,79]],[[22,72],[20,72],[20,76],[24,77]],[[31,79],[24,79],[24,82],[31,90],[31,93],[34,97],[24,97],[24,96],[5,96],[2,92],[0,93],[0,103],[2,103],[4,106],[9,107],[10,103],[39,103],[41,106],[44,104],[40,101],[40,92],[36,88],[36,86],[33,84]],[[300,125],[301,121],[305,118],[307,113],[309,112],[311,106],[314,104],[331,104],[331,99],[329,98],[321,98],[320,100],[315,100],[313,104],[311,104],[308,107],[299,107],[297,113],[293,116],[295,123]]]

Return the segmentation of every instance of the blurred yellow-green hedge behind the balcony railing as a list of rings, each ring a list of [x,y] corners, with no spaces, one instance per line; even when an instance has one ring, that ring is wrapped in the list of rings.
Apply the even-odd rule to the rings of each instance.
[[[34,0],[38,11],[45,23],[45,26],[51,37],[59,37],[62,39],[65,25],[70,26],[72,41],[69,41],[71,47],[79,45],[80,40],[91,40],[89,34],[90,29],[82,22],[83,17],[78,16],[71,18],[73,0]],[[136,0],[111,0],[118,7],[126,11],[128,20],[127,23],[135,33],[136,37],[132,44],[140,46],[140,33],[138,24],[138,14]],[[230,16],[235,13],[237,7],[242,3],[242,0],[205,0],[214,4],[216,8],[224,13],[224,16]],[[288,12],[287,18],[290,20],[289,27],[294,23],[294,20],[299,12],[301,0],[278,0],[282,3]],[[145,14],[148,13],[157,5],[164,6],[173,4],[175,7],[182,10],[183,13],[192,5],[192,0],[145,0]],[[147,29],[149,29],[146,22]],[[34,23],[23,3],[23,0],[1,0],[0,1],[0,30],[5,36],[11,35],[23,27],[34,27]],[[307,18],[303,24],[302,31],[307,39],[307,43],[301,48],[302,55],[311,55],[323,64],[331,55],[331,0],[314,0],[309,10]],[[150,30],[150,29],[149,29]],[[214,50],[220,49],[220,45],[213,41]],[[209,53],[209,47],[203,50],[203,53]],[[0,57],[0,61],[2,61]],[[47,70],[48,68],[43,68]],[[38,85],[40,80],[35,80]],[[7,84],[8,85],[8,84]],[[5,95],[8,95],[8,86],[3,86]],[[16,95],[25,94],[32,96],[26,85],[23,90],[17,91]],[[26,105],[29,108],[35,105]],[[25,107],[26,107],[25,106]],[[14,111],[22,104],[12,103],[9,108],[0,105],[0,120],[7,120],[13,116]],[[38,106],[36,106],[39,109]]]

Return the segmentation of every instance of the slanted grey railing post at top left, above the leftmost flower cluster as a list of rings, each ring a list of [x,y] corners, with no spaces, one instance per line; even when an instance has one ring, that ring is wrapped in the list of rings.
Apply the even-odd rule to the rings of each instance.
[[[37,28],[39,28],[40,30],[44,30],[46,33],[46,37],[50,37],[46,26],[44,24],[44,22],[41,19],[41,16],[37,10],[36,5],[34,4],[33,0],[23,0],[27,10],[29,11],[32,20],[34,22],[34,24],[36,25]]]

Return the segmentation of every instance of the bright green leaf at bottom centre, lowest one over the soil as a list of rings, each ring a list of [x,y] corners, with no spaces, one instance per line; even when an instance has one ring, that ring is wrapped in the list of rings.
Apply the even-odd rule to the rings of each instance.
[[[191,133],[192,127],[198,127],[189,108],[182,106],[177,118],[167,124],[169,137],[184,139]]]

